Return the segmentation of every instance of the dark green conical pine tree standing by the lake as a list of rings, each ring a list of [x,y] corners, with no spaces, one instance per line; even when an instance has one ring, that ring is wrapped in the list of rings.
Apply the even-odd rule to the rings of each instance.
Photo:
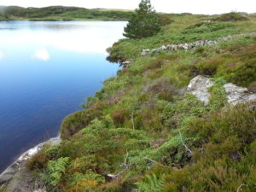
[[[160,24],[150,0],[142,0],[125,27],[124,36],[126,38],[147,38],[158,32],[160,32]]]

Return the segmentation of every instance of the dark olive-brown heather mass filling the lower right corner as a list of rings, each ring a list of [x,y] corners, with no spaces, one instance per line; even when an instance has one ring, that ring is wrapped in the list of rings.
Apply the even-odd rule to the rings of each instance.
[[[168,172],[163,191],[236,191],[241,184],[255,190],[255,112],[238,105],[191,122],[186,135],[197,138],[193,164]]]

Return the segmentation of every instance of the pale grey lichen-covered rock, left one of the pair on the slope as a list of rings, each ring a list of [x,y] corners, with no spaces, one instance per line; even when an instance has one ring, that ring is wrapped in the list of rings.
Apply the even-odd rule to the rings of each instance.
[[[187,91],[190,94],[195,95],[198,100],[205,102],[207,105],[209,102],[209,96],[211,95],[207,89],[213,84],[214,82],[212,80],[198,75],[190,81]]]

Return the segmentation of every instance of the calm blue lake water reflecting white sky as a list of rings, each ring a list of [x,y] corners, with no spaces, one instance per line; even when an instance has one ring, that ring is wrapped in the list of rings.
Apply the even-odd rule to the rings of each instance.
[[[0,22],[0,172],[114,76],[123,21]]]

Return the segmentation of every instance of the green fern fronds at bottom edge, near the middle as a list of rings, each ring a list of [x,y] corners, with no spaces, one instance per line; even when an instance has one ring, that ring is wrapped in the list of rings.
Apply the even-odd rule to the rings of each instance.
[[[137,190],[139,192],[151,192],[161,191],[164,188],[165,179],[163,176],[157,177],[154,173],[151,175],[145,175],[143,181],[139,181],[137,184]]]

